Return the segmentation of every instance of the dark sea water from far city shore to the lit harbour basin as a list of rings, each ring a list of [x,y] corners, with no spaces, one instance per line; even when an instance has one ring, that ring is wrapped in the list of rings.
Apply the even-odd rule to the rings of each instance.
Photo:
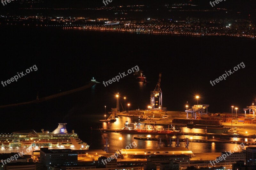
[[[113,124],[99,122],[116,106],[116,92],[132,109],[146,109],[150,91],[154,90],[158,74],[162,72],[163,105],[168,110],[184,111],[185,104],[210,104],[209,111],[231,112],[229,106],[243,108],[255,99],[254,72],[255,41],[235,37],[183,37],[135,33],[88,32],[60,28],[0,27],[1,80],[6,81],[36,65],[38,70],[0,87],[0,104],[12,104],[64,92],[83,86],[95,77],[108,81],[138,65],[144,70],[148,83],[135,82],[132,75],[105,87],[102,84],[60,98],[41,103],[0,109],[1,133],[16,130],[40,129],[53,131],[66,122],[90,149],[103,149],[109,139],[109,151],[131,144],[135,134],[103,133],[99,127],[120,129],[124,122],[138,122],[136,118],[119,117]],[[209,82],[244,62],[245,68],[227,80],[212,86]],[[120,110],[122,111],[121,104]],[[127,110],[127,107],[126,107]],[[238,111],[242,112],[242,109]],[[184,129],[189,131],[190,129]],[[200,132],[202,129],[193,129]],[[221,133],[216,131],[215,133]],[[122,136],[120,143],[118,138]],[[146,135],[140,135],[146,136]],[[183,136],[178,136],[183,138]],[[193,137],[204,139],[204,137]],[[233,139],[230,139],[233,140]],[[157,141],[136,141],[138,148],[157,148]],[[167,142],[164,141],[164,146]],[[183,143],[181,145],[184,145]],[[222,152],[236,144],[193,143],[193,152]]]

